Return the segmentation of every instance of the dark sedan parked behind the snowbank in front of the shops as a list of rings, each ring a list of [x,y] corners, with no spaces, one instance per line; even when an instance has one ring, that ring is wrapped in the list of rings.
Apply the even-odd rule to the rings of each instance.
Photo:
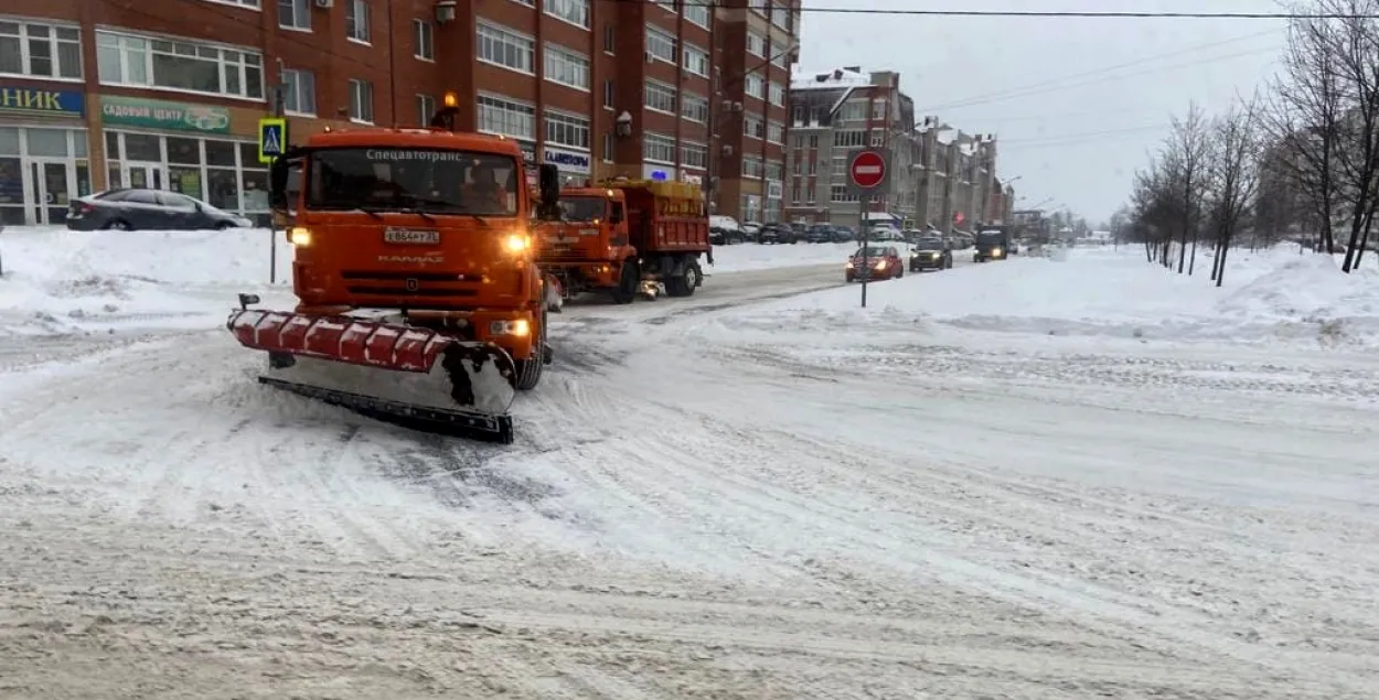
[[[252,222],[178,192],[117,189],[72,200],[68,229],[234,229]]]

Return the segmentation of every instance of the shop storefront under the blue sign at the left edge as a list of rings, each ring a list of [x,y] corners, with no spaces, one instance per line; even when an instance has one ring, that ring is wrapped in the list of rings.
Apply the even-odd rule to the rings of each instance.
[[[85,94],[0,83],[0,223],[59,225],[91,193]]]

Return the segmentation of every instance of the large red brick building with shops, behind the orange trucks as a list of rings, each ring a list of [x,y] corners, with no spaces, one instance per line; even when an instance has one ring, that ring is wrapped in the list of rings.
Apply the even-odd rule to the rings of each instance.
[[[473,105],[462,128],[513,136],[570,181],[705,182],[720,168],[721,209],[736,214],[779,156],[734,136],[709,163],[710,79],[732,94],[741,70],[716,59],[738,48],[716,25],[750,54],[742,10],[718,11],[724,25],[702,0],[7,0],[0,220],[61,223],[70,197],[114,186],[266,218],[255,136],[279,85],[292,141],[328,124],[418,125],[455,91]],[[741,113],[756,128],[767,109],[752,99]]]

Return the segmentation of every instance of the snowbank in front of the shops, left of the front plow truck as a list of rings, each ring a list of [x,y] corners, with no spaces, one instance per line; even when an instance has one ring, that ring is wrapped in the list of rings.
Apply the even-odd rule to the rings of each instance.
[[[0,234],[0,335],[207,327],[240,291],[269,291],[266,229]],[[291,248],[277,245],[280,285]]]

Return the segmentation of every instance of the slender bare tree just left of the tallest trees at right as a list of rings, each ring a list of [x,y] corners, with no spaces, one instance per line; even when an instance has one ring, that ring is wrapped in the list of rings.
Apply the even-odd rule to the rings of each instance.
[[[1258,99],[1237,105],[1211,124],[1207,220],[1215,234],[1211,278],[1226,280],[1226,256],[1259,192]]]

